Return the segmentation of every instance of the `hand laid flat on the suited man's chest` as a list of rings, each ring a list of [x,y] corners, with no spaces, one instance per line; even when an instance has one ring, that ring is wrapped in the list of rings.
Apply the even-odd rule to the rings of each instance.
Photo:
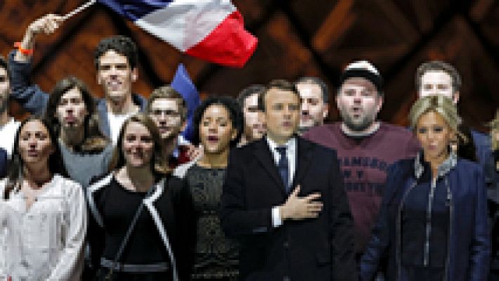
[[[290,197],[279,207],[280,218],[282,221],[303,220],[306,218],[316,218],[323,209],[323,203],[320,200],[320,193],[313,193],[306,197],[298,197],[300,185],[294,188]]]

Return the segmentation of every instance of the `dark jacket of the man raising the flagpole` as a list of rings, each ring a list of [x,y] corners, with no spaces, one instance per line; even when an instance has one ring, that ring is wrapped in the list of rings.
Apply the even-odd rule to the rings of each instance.
[[[11,72],[11,98],[20,103],[25,110],[34,115],[43,115],[50,97],[48,93],[41,91],[40,87],[30,84],[31,60],[27,63],[19,63],[14,60],[15,51],[8,54],[8,69]],[[147,100],[143,96],[132,94],[133,102],[145,110]],[[111,137],[111,129],[108,120],[108,106],[104,98],[96,98],[99,126],[108,138]]]

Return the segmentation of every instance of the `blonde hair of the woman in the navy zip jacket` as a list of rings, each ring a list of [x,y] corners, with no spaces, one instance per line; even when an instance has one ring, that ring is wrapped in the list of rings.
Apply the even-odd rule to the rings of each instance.
[[[416,100],[409,112],[411,129],[414,130],[420,117],[428,112],[435,112],[439,114],[446,121],[451,130],[458,133],[458,136],[463,138],[463,141],[467,143],[465,136],[463,136],[458,130],[458,127],[461,124],[461,117],[459,117],[458,108],[455,106],[455,103],[453,103],[451,98],[437,95],[426,96]]]

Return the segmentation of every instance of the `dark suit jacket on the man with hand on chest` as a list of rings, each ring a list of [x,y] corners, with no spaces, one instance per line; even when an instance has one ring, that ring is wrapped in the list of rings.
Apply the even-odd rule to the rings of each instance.
[[[288,195],[266,140],[231,151],[221,196],[221,224],[241,242],[241,280],[357,280],[353,219],[335,150],[297,137],[292,187],[320,192],[318,218],[273,228],[271,209]]]

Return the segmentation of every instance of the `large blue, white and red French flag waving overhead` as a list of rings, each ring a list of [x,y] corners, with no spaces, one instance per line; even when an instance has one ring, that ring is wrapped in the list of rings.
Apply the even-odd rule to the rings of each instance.
[[[242,67],[258,39],[230,0],[98,0],[183,53]]]

